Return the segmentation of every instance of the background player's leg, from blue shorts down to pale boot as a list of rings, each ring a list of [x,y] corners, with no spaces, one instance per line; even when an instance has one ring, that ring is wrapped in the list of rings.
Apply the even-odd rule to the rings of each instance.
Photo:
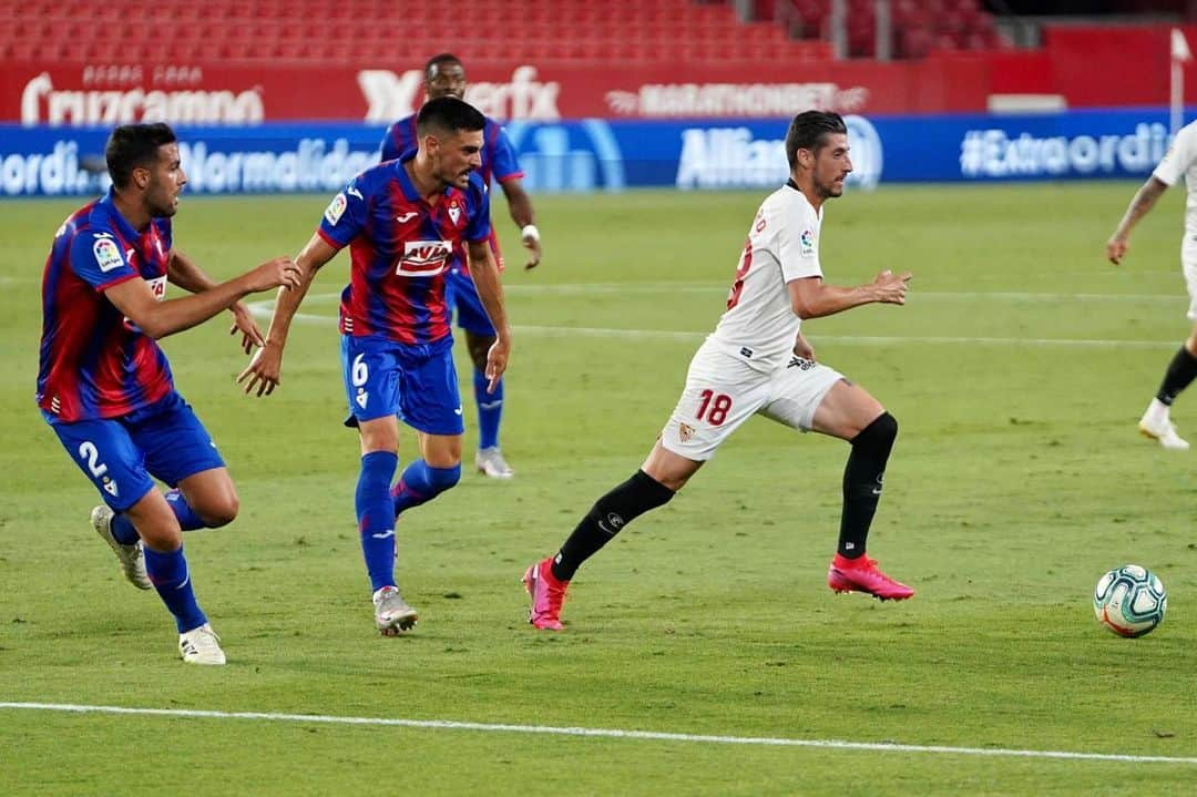
[[[487,393],[486,355],[497,340],[494,326],[478,288],[468,274],[448,278],[452,284],[452,302],[457,311],[457,326],[466,331],[466,347],[474,366],[474,403],[478,407],[478,451],[474,466],[478,471],[492,479],[510,479],[515,475],[499,448],[499,425],[503,420],[504,381],[500,378],[494,390]]]

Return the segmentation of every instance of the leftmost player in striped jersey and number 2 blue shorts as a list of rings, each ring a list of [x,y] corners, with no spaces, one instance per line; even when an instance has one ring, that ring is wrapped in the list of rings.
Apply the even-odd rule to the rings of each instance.
[[[248,348],[262,335],[241,298],[294,287],[298,269],[280,257],[217,285],[175,249],[171,218],[187,176],[168,126],[119,127],[105,157],[111,190],[59,227],[45,261],[37,403],[104,499],[92,525],[126,578],[156,589],[175,616],[183,661],[224,664],[182,533],[231,522],[237,492],[156,341],[231,309]],[[165,299],[166,282],[194,296]],[[154,477],[172,489],[164,495]]]

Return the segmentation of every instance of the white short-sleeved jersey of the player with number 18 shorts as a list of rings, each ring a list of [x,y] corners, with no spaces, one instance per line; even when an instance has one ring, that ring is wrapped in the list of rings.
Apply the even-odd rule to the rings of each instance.
[[[801,320],[786,282],[822,276],[819,227],[822,213],[789,182],[761,202],[740,255],[728,310],[710,339],[761,369],[788,361]]]

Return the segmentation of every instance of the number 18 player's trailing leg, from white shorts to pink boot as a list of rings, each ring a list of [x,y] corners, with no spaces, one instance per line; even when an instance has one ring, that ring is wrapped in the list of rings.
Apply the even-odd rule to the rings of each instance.
[[[758,384],[759,383],[759,384]],[[590,507],[554,556],[524,572],[528,620],[560,631],[561,601],[578,567],[640,515],[667,504],[760,406],[766,384],[734,358],[703,347],[686,387],[640,469]]]

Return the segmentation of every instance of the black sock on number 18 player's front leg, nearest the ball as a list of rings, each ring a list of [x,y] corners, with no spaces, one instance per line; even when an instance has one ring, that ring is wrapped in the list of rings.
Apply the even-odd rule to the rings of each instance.
[[[844,512],[839,521],[841,556],[856,559],[864,553],[873,516],[881,499],[886,462],[898,437],[898,421],[882,413],[852,438],[852,452],[844,468]]]

